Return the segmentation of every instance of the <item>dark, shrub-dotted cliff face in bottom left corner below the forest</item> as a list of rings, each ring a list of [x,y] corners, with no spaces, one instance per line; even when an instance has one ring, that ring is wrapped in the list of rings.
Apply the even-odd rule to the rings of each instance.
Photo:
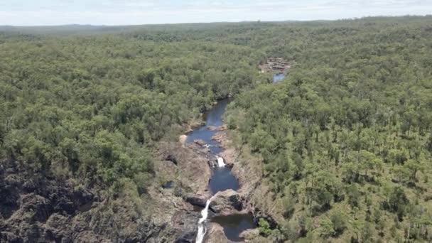
[[[1,242],[138,242],[163,229],[127,203],[117,207],[16,161],[1,163],[0,198]]]

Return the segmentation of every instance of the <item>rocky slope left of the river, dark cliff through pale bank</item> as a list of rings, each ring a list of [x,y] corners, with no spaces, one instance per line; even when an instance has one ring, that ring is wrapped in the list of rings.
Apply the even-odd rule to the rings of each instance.
[[[207,153],[179,144],[161,148],[148,192],[115,198],[33,172],[18,161],[0,163],[0,242],[193,242],[199,210],[183,200],[205,194]],[[193,180],[197,173],[202,183]],[[173,181],[164,188],[163,181]]]

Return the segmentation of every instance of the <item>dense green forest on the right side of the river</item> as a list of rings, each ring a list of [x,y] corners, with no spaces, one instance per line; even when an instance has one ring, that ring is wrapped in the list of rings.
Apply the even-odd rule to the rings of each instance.
[[[236,97],[227,119],[239,144],[263,158],[283,215],[275,237],[431,241],[431,23],[267,31],[278,30],[281,55],[297,64],[286,80]]]

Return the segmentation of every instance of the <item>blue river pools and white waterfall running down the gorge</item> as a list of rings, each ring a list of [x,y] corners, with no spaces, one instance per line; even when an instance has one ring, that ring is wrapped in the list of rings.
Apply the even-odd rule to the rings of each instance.
[[[212,140],[217,131],[212,131],[208,126],[222,126],[222,115],[225,113],[225,108],[229,103],[229,99],[222,99],[217,104],[212,107],[204,115],[205,124],[194,129],[190,134],[188,134],[188,140],[186,143],[193,143],[195,139],[201,139],[205,142],[206,146],[210,146],[210,151],[213,155],[218,156],[222,151],[220,143],[218,141]],[[215,195],[217,192],[232,189],[239,189],[239,182],[237,178],[232,175],[231,170],[225,166],[218,166],[212,168],[212,177],[210,178],[210,190],[212,194]],[[207,202],[210,203],[209,199]],[[198,222],[198,237],[197,242],[202,242],[204,234],[207,231],[205,229],[205,221],[207,220],[208,207],[206,207],[201,212],[201,219]],[[210,219],[212,222],[217,222],[220,224],[225,232],[228,239],[232,241],[240,241],[239,234],[244,231],[244,229],[251,229],[256,227],[252,215],[229,215],[229,216],[217,216]]]

